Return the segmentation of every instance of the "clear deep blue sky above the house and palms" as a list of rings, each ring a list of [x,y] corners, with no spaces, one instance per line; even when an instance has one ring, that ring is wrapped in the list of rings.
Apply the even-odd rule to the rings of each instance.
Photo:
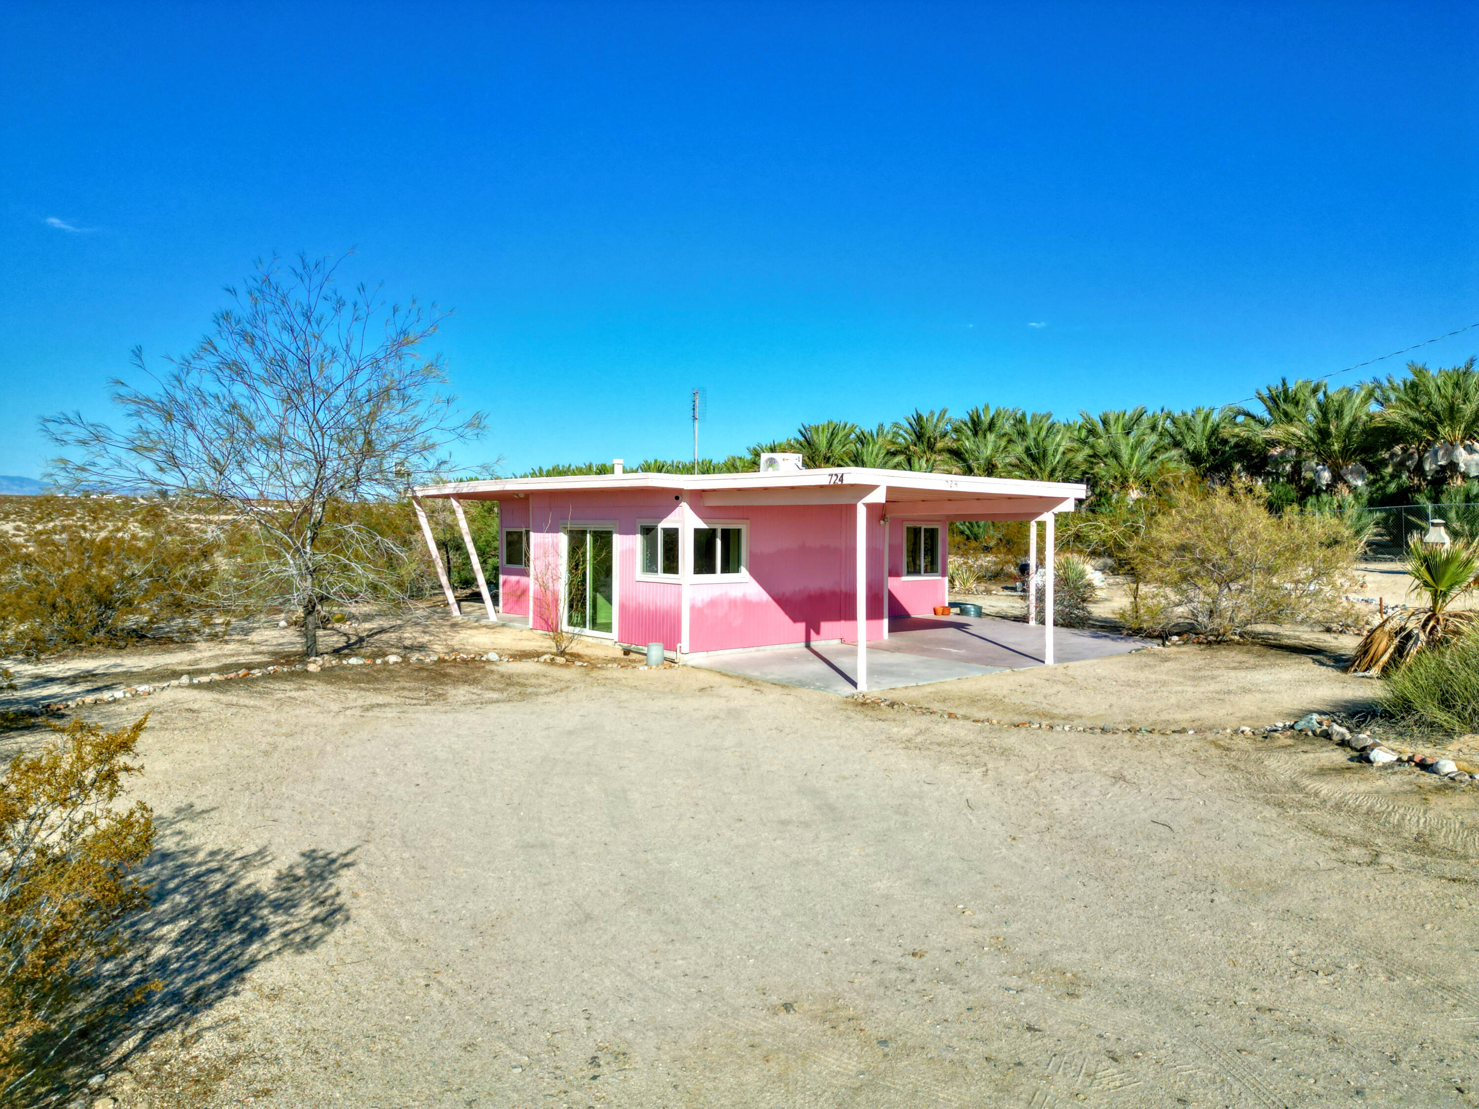
[[[510,470],[682,457],[694,384],[723,455],[1479,321],[1472,3],[10,0],[0,43],[0,473],[274,251],[454,309],[460,460]]]

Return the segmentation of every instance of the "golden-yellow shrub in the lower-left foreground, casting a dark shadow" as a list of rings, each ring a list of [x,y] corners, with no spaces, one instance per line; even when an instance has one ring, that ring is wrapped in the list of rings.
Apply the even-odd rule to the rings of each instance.
[[[141,997],[109,991],[105,971],[127,946],[120,924],[148,903],[136,871],[154,816],[120,803],[146,720],[55,726],[0,775],[0,1103],[65,1060],[86,1023]]]

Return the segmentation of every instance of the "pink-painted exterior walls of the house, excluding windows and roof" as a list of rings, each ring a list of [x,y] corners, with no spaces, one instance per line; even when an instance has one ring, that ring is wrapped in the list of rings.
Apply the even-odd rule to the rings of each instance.
[[[856,507],[771,506],[705,507],[694,497],[692,512],[700,525],[738,522],[748,525],[748,574],[725,581],[689,584],[689,652],[856,640],[853,591]],[[637,580],[640,541],[637,520],[676,522],[679,503],[671,492],[620,489],[611,492],[534,492],[528,498],[503,500],[504,528],[531,529],[527,569],[500,572],[509,614],[531,614],[531,625],[544,628],[558,612],[541,587],[558,580],[561,528],[568,522],[609,523],[615,528],[615,639],[620,643],[661,642],[676,651],[682,636],[682,586],[677,581]],[[868,637],[884,634],[884,603],[908,603],[908,611],[929,612],[944,600],[939,583],[898,581],[902,566],[902,529],[892,525],[890,581],[883,577],[883,506],[868,509]],[[549,565],[550,571],[541,571]],[[933,590],[933,591],[932,591]],[[532,594],[532,602],[531,602]],[[913,608],[916,597],[929,603]],[[936,600],[938,597],[938,600]],[[907,600],[905,600],[907,599]],[[923,602],[920,602],[923,603]]]

